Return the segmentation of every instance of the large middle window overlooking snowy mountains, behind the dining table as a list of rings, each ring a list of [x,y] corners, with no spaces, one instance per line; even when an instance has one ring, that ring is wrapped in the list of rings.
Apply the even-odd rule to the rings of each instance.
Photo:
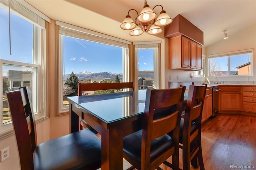
[[[59,25],[59,112],[68,111],[66,98],[78,95],[77,83],[128,81],[128,43],[105,38],[62,22]],[[90,34],[89,34],[90,32]],[[114,38],[113,38],[114,39]],[[119,39],[118,39],[119,40]],[[94,94],[88,92],[86,95]]]

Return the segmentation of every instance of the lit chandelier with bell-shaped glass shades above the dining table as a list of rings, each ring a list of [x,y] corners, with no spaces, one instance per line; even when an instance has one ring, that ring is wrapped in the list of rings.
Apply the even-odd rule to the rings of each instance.
[[[156,13],[153,10],[156,6],[161,6],[162,11],[160,12],[160,15],[158,16],[158,18],[155,20]],[[143,10],[140,12],[140,15],[134,9],[129,10],[128,15],[126,16],[126,18],[124,19],[120,27],[123,30],[131,30],[130,32],[131,36],[139,36],[143,32],[148,32],[148,34],[161,33],[162,29],[160,28],[160,26],[166,26],[170,24],[172,22],[172,18],[170,18],[170,16],[166,14],[162,5],[156,5],[156,6],[154,6],[152,10],[147,4],[147,1],[145,0],[144,7],[143,7]],[[135,22],[131,19],[131,16],[129,15],[129,12],[132,10],[136,11],[137,13]],[[143,30],[141,29],[141,27],[138,26],[137,22],[139,23],[140,26],[142,26]],[[148,30],[148,26],[151,24],[151,22],[152,22],[152,26],[150,26]]]

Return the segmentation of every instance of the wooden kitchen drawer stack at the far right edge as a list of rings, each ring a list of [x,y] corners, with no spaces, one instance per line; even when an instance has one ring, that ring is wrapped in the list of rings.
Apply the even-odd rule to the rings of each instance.
[[[256,113],[256,86],[243,86],[243,111]]]

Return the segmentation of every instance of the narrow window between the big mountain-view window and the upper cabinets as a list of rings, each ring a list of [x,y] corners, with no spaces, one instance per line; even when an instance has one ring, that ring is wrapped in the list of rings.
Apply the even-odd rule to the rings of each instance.
[[[146,42],[144,42],[146,43]],[[159,42],[160,43],[160,42]],[[135,43],[136,72],[138,89],[159,88],[159,44]],[[137,83],[136,83],[137,84]]]

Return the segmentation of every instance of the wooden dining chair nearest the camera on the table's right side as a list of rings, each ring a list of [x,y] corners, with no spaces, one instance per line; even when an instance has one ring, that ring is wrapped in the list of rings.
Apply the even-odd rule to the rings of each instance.
[[[184,94],[183,94],[184,95]],[[124,158],[132,164],[129,169],[159,169],[172,156],[175,168],[179,166],[178,136],[182,107],[182,87],[173,89],[153,89],[146,91],[143,128],[124,137]],[[169,109],[162,116],[158,109]],[[157,112],[157,117],[155,113]],[[173,130],[173,136],[167,135]]]

